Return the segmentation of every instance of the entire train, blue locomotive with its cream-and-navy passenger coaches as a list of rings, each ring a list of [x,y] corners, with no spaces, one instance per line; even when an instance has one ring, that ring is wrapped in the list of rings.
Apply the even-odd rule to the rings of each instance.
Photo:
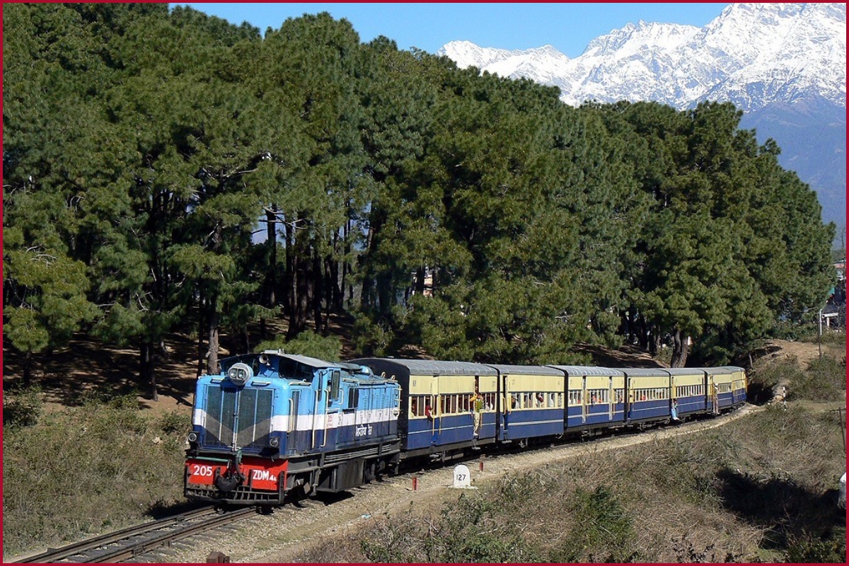
[[[522,366],[265,350],[198,378],[189,500],[268,509],[405,462],[645,429],[745,404],[742,367]]]

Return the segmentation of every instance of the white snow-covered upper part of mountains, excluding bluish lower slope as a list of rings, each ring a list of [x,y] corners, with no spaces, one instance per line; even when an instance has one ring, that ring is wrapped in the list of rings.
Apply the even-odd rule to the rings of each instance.
[[[678,109],[730,100],[745,112],[817,94],[846,107],[846,4],[730,4],[703,28],[639,21],[575,59],[551,46],[508,51],[451,42],[460,67],[559,87],[567,104],[655,100]]]

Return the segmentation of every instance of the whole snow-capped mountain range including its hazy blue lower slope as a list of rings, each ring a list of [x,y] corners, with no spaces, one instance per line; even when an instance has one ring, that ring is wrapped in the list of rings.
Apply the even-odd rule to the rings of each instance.
[[[818,191],[824,220],[846,225],[845,3],[734,3],[701,28],[639,21],[593,39],[575,59],[550,45],[510,51],[462,41],[437,54],[559,87],[571,105],[730,101],[745,113],[741,126],[761,141],[773,137],[782,165]]]

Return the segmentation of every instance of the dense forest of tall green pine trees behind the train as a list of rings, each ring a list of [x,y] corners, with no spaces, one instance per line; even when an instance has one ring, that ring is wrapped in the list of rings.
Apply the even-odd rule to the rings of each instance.
[[[3,5],[3,338],[138,347],[275,317],[357,347],[722,364],[824,305],[833,225],[731,104],[572,108],[329,14]],[[27,366],[29,367],[29,366]],[[25,379],[29,379],[28,370]]]

